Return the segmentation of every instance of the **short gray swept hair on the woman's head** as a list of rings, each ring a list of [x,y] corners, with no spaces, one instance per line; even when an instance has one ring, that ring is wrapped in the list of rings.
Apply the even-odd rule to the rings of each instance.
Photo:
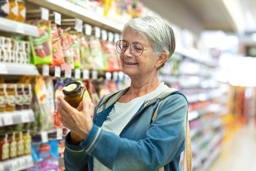
[[[134,18],[124,25],[123,37],[127,28],[132,28],[145,37],[156,53],[165,52],[168,58],[173,55],[176,42],[173,28],[166,20],[153,16]]]

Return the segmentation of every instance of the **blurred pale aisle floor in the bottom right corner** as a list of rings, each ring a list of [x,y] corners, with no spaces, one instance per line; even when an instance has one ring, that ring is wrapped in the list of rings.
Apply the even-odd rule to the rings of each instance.
[[[222,153],[208,171],[256,171],[256,126],[239,128],[224,142]]]

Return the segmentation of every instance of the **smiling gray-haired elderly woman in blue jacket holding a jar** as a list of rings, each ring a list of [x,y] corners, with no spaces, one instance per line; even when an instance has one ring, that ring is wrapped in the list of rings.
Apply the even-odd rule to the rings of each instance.
[[[67,170],[179,170],[184,151],[187,99],[158,78],[175,50],[173,29],[161,18],[130,20],[116,42],[123,72],[131,79],[124,90],[89,100],[77,109],[58,97],[61,121],[68,129]],[[160,101],[161,99],[161,101]],[[153,120],[154,113],[157,117]],[[92,117],[93,116],[93,117]]]

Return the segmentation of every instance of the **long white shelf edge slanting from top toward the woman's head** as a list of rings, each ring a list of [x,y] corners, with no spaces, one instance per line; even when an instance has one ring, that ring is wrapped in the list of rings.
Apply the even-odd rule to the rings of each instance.
[[[99,26],[100,28],[104,28],[109,31],[114,31],[120,33],[123,24],[119,24],[113,22],[108,18],[105,18],[102,15],[99,15],[89,9],[80,7],[77,4],[73,4],[69,1],[64,0],[41,0],[41,1],[34,1],[34,0],[26,0],[31,2],[32,4],[37,4],[39,7],[45,7],[47,9],[51,9],[55,12],[60,12],[61,14],[67,15],[72,18],[79,18],[80,20],[85,21],[88,24],[93,26]]]

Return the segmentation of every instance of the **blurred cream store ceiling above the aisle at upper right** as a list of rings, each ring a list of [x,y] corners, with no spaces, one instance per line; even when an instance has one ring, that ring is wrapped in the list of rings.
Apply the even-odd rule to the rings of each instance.
[[[154,12],[195,34],[222,30],[235,34],[256,32],[255,0],[141,0]]]

